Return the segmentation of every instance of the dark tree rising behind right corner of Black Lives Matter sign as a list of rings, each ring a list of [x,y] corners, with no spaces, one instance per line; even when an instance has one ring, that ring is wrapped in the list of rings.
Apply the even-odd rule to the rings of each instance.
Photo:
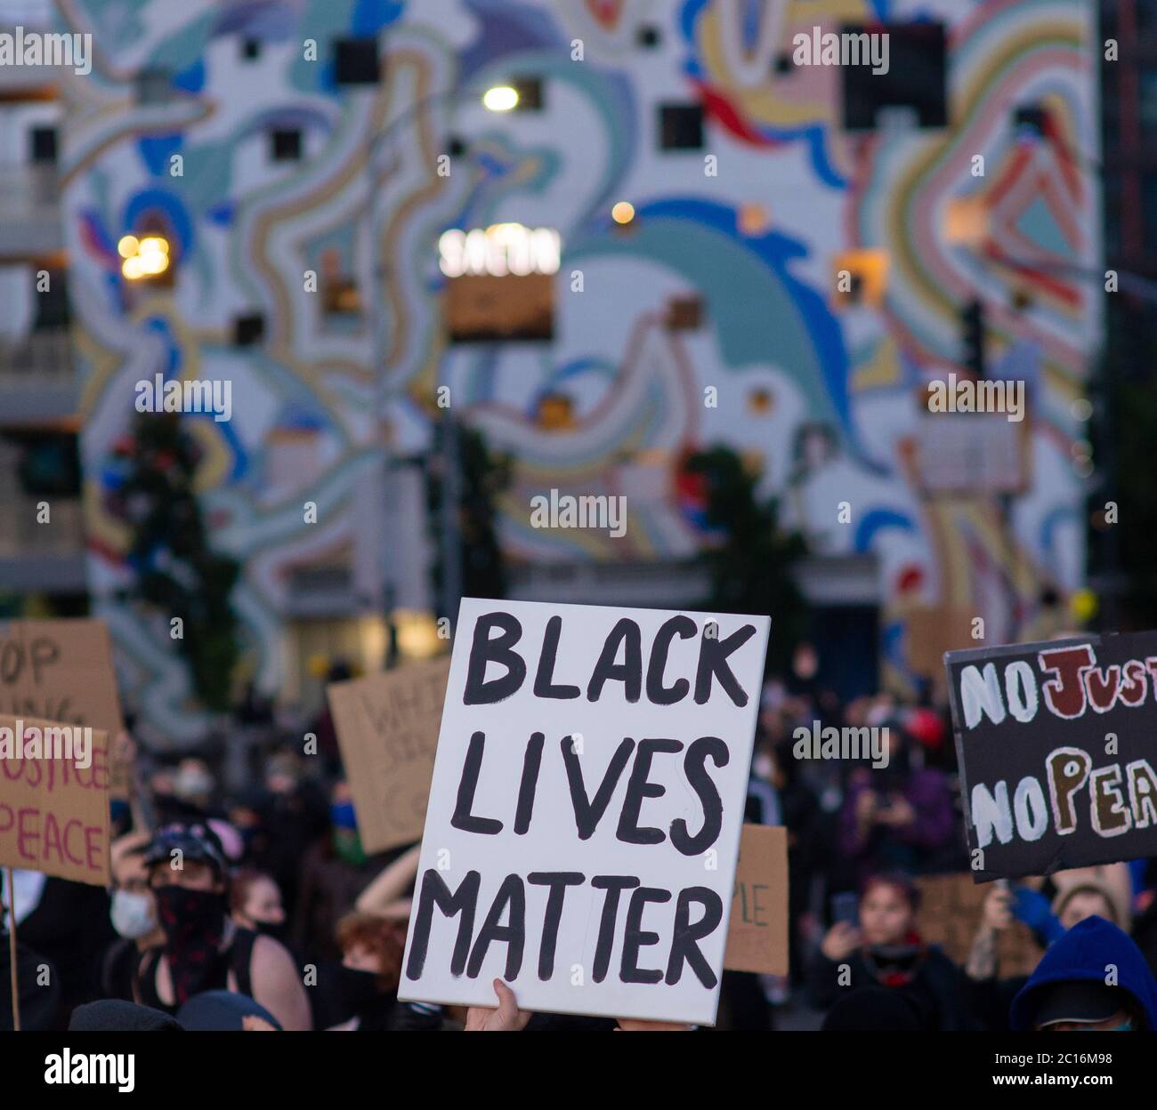
[[[758,500],[759,475],[730,447],[699,451],[684,465],[701,478],[705,523],[714,535],[702,554],[712,571],[710,606],[721,613],[769,615],[768,669],[784,672],[808,627],[806,605],[791,574],[805,554],[804,541],[780,528],[776,502]]]

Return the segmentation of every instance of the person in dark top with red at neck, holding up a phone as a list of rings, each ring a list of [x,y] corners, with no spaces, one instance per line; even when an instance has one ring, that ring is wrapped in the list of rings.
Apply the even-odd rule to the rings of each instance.
[[[861,986],[902,990],[923,1015],[923,1028],[975,1028],[960,971],[916,932],[919,894],[902,874],[870,878],[860,897],[860,924],[832,926],[808,967],[808,991],[817,1009],[828,1009]]]

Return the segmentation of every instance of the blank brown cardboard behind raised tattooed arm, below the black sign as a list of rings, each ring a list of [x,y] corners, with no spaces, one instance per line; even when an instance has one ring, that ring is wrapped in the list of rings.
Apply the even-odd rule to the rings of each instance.
[[[941,948],[960,967],[968,960],[980,926],[989,886],[977,886],[972,875],[921,875],[920,912],[916,931],[930,945]],[[1042,952],[1024,922],[1014,922],[998,934],[997,967],[1004,976],[1031,975]]]

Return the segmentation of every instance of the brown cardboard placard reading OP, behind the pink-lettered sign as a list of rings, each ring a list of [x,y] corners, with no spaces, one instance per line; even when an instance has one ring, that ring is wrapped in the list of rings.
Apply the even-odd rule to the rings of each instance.
[[[104,621],[0,622],[0,713],[109,734],[124,727]],[[132,769],[111,768],[113,798],[127,798]]]

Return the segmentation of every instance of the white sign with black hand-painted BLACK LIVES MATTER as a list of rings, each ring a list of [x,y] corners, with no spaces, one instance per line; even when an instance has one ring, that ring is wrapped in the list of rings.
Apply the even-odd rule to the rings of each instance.
[[[463,600],[399,998],[714,1022],[769,624]]]

